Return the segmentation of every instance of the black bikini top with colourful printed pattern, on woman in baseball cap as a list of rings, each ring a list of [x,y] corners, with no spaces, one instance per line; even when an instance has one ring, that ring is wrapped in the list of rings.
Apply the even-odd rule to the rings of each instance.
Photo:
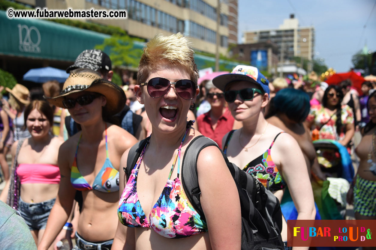
[[[226,154],[227,145],[229,144],[231,137],[233,135],[233,131],[229,134],[230,139],[228,140],[227,144],[224,146],[223,152]],[[282,176],[278,172],[276,165],[274,164],[273,160],[271,159],[270,150],[274,144],[274,141],[277,137],[284,132],[280,132],[279,134],[274,137],[273,142],[271,143],[270,147],[264,154],[257,157],[255,160],[251,161],[244,167],[244,171],[249,173],[250,175],[255,176],[261,183],[270,191],[277,191],[284,189],[286,187],[286,182],[282,179]]]

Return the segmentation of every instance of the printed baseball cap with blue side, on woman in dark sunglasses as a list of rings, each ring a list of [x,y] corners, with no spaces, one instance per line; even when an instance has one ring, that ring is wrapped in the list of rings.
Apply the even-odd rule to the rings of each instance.
[[[223,74],[213,79],[213,84],[218,89],[224,91],[226,85],[232,81],[249,81],[261,86],[265,93],[270,93],[269,81],[262,75],[258,68],[247,65],[236,66],[231,73]]]

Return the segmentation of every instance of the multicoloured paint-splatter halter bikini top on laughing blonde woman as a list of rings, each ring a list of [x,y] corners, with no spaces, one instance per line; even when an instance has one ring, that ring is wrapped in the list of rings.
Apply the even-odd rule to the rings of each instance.
[[[123,225],[128,227],[151,227],[159,235],[166,238],[185,238],[208,231],[206,222],[200,218],[200,215],[194,210],[190,203],[188,203],[188,199],[183,192],[183,187],[179,179],[180,151],[186,132],[178,149],[174,163],[172,164],[170,175],[168,176],[162,194],[150,211],[150,223],[146,218],[145,212],[141,208],[136,186],[138,170],[147,145],[149,145],[149,141],[146,143],[138,161],[130,173],[127,185],[124,188],[119,201],[118,216]],[[171,180],[170,178],[176,160],[177,178]]]

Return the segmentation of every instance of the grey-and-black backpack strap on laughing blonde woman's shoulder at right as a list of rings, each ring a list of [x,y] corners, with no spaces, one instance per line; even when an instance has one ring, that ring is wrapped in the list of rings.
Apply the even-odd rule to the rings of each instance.
[[[195,137],[185,149],[183,164],[181,169],[182,185],[188,200],[198,212],[200,217],[205,220],[204,212],[200,203],[200,187],[197,176],[197,158],[202,149],[208,146],[216,146],[217,143],[205,136]],[[219,148],[218,148],[219,149]]]

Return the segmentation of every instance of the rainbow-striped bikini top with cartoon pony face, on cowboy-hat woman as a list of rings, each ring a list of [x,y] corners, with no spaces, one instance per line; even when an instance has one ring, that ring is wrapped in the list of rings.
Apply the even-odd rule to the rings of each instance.
[[[82,136],[82,134],[81,134]],[[74,188],[80,191],[85,190],[97,190],[101,192],[115,192],[119,191],[119,171],[112,166],[112,163],[108,157],[108,145],[107,145],[107,125],[106,125],[106,160],[94,179],[93,186],[90,187],[89,183],[83,178],[80,171],[77,168],[77,151],[78,145],[81,140],[78,140],[76,155],[71,168],[71,184]]]

